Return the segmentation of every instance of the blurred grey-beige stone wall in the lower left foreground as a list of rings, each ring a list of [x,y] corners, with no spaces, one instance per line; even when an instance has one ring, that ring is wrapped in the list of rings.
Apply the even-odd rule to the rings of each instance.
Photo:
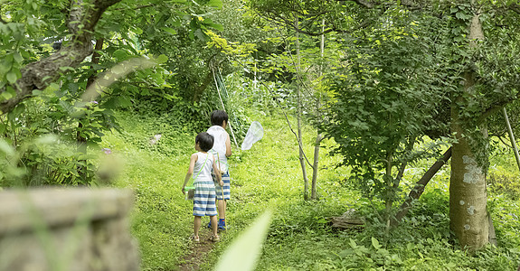
[[[0,271],[139,270],[133,203],[128,190],[0,192]]]

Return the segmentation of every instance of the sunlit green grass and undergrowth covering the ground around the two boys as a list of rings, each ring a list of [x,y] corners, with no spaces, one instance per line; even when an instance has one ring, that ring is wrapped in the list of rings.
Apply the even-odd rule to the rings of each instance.
[[[195,133],[172,126],[175,120],[167,116],[119,115],[125,132],[105,136],[103,147],[125,164],[113,186],[136,193],[131,224],[142,269],[179,270],[194,260],[186,257],[196,249],[188,240],[193,229],[191,201],[185,201],[181,192]],[[506,148],[493,156],[488,174],[488,209],[498,247],[469,255],[449,231],[449,164],[437,173],[402,224],[385,233],[384,225],[371,222],[377,202],[355,192],[347,181],[349,170],[336,168],[339,157],[328,155],[326,147],[321,150],[319,200],[303,201],[298,145],[285,118],[279,112],[247,118],[260,121],[264,137],[249,151],[232,144],[230,228],[222,232],[220,243],[195,260],[200,270],[211,269],[232,239],[266,209],[274,210],[274,215],[258,270],[516,270],[520,180],[514,156]],[[150,137],[156,134],[161,139],[150,145]],[[306,127],[305,134],[306,152],[312,154],[316,132]],[[404,182],[416,182],[430,164],[414,164]],[[363,230],[331,228],[331,217],[352,209],[365,217]]]

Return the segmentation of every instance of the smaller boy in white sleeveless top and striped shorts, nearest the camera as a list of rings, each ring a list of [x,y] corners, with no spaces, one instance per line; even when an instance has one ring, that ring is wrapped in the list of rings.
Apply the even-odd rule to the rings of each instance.
[[[184,188],[192,175],[194,175],[194,236],[195,242],[200,240],[199,229],[203,216],[209,216],[213,222],[213,236],[211,240],[216,242],[220,240],[217,234],[217,210],[215,206],[215,184],[213,182],[212,170],[216,172],[216,157],[208,153],[213,146],[213,135],[208,133],[200,133],[195,137],[195,150],[197,153],[192,154],[190,158],[190,166],[188,173],[184,179]],[[217,176],[217,182],[223,185],[222,178]]]

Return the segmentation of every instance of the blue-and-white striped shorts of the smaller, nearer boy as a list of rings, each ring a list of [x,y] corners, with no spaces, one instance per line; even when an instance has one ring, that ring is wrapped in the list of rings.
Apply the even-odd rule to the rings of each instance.
[[[217,207],[215,205],[215,185],[213,180],[197,180],[194,185],[194,216],[216,216]]]

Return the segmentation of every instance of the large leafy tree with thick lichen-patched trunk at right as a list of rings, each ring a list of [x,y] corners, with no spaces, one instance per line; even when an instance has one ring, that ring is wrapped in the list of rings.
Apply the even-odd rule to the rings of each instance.
[[[270,2],[258,5],[264,3]],[[336,152],[354,166],[367,196],[386,202],[390,216],[406,164],[433,155],[413,149],[415,143],[425,135],[450,137],[437,141],[453,145],[450,228],[462,247],[481,248],[487,242],[486,120],[518,98],[513,55],[519,6],[511,1],[322,1],[301,14],[306,22],[326,17],[329,27],[318,32],[309,27],[312,23],[295,26],[280,15],[313,4],[279,1],[266,9],[273,21],[299,33],[342,33],[345,58],[336,63],[337,76],[331,76],[336,100],[326,126],[338,144]]]

